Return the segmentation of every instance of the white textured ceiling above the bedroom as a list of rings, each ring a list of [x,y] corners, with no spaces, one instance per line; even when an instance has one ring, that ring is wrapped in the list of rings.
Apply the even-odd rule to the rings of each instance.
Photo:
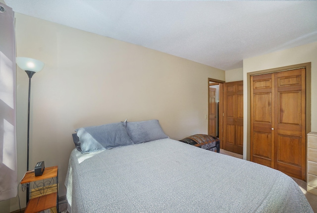
[[[4,1],[15,12],[223,70],[317,41],[317,1]]]

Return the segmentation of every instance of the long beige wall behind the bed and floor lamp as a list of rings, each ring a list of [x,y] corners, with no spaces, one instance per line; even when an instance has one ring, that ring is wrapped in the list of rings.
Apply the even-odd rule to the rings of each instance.
[[[159,119],[172,139],[207,134],[208,78],[225,72],[96,34],[19,13],[17,56],[45,62],[32,77],[30,168],[59,166],[59,195],[74,148],[74,129]],[[18,179],[26,170],[28,77],[17,68]],[[19,190],[21,206],[25,194]],[[18,209],[10,200],[10,211]]]

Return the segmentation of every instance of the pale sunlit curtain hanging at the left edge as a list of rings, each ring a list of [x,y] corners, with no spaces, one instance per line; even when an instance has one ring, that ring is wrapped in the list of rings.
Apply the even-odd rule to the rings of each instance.
[[[0,3],[0,201],[17,195],[14,12]]]

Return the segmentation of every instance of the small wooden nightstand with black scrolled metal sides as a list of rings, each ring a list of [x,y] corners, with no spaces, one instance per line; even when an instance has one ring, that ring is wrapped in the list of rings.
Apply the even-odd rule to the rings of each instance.
[[[58,213],[58,167],[45,168],[41,176],[35,176],[34,171],[27,171],[21,180],[22,187],[31,183],[33,189],[30,190],[30,200],[24,213],[38,213],[52,208]]]

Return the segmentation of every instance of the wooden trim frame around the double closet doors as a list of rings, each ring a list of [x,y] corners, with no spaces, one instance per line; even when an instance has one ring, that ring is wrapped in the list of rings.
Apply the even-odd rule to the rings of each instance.
[[[267,73],[274,73],[274,72],[281,72],[281,71],[288,71],[292,69],[299,69],[299,68],[306,68],[306,134],[311,132],[311,102],[312,102],[312,95],[311,95],[311,82],[312,82],[312,63],[300,63],[290,66],[283,66],[278,68],[272,68],[272,69],[266,69],[266,70],[260,70],[255,72],[248,72],[247,73],[247,99],[248,99],[248,125],[247,125],[247,160],[251,159],[251,76],[252,75],[261,75],[261,74],[267,74]],[[306,141],[306,149],[307,149],[307,141]],[[307,153],[306,153],[307,158]],[[306,160],[307,161],[307,160]],[[306,168],[307,169],[307,168]]]

